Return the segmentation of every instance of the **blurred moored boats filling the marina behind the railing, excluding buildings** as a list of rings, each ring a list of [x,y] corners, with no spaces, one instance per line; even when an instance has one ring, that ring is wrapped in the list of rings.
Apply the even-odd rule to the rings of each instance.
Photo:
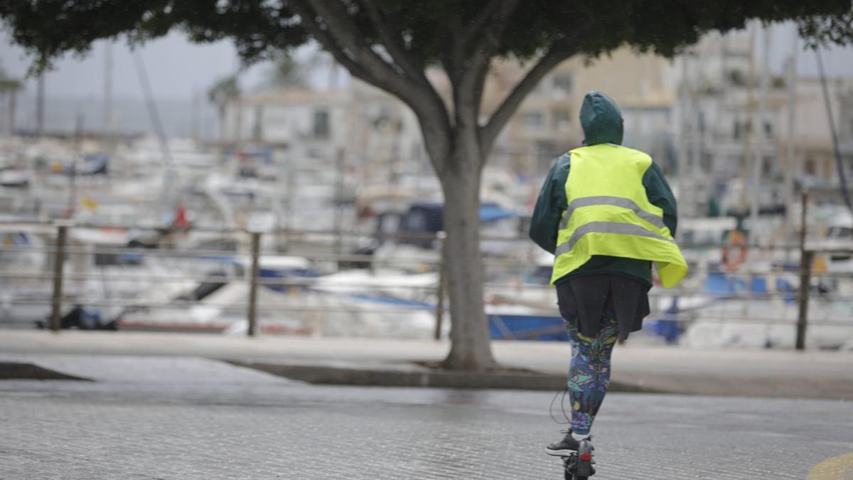
[[[312,171],[311,160],[287,165],[296,172],[288,200],[289,194],[277,191],[276,177],[255,174],[281,168],[274,155],[249,161],[247,155],[222,157],[186,143],[177,143],[180,155],[172,155],[173,163],[148,163],[148,173],[139,176],[134,172],[140,164],[156,157],[145,144],[114,156],[93,155],[100,167],[77,173],[57,167],[50,156],[44,169],[32,167],[40,164],[38,155],[61,151],[51,143],[19,147],[16,160],[7,157],[3,172],[14,175],[4,179],[26,182],[2,187],[9,199],[0,224],[3,327],[49,325],[60,224],[45,220],[64,216],[61,225],[69,226],[61,307],[69,321],[78,318],[78,328],[246,334],[251,232],[258,232],[255,302],[262,333],[450,335],[450,322],[443,321],[447,304],[438,300],[440,202],[402,190],[371,193],[365,213],[354,185],[329,187],[330,174]],[[164,184],[179,185],[174,188],[180,195]],[[506,190],[527,191],[523,184]],[[525,212],[512,205],[525,197],[508,201],[506,190],[496,197],[507,207],[484,202],[481,208],[491,336],[565,341],[548,288],[552,257],[519,237]],[[809,346],[853,348],[853,261],[845,249],[853,238],[844,226],[849,216],[821,206],[809,219],[812,231],[823,232],[809,237],[809,245],[825,250],[812,266]],[[766,227],[760,228],[782,223],[779,215],[761,220]],[[692,241],[685,248],[691,273],[677,291],[653,288],[647,327],[632,342],[792,348],[799,249],[772,242],[731,246],[724,239],[736,226],[732,217],[683,223],[682,235]]]

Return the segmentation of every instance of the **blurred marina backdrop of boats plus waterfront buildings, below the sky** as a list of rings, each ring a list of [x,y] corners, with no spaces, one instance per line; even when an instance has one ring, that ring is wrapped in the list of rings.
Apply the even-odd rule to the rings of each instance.
[[[572,59],[531,93],[481,182],[492,338],[566,341],[548,286],[553,256],[527,230],[554,158],[583,140],[579,98],[606,88],[623,105],[625,143],[653,156],[678,198],[676,240],[689,265],[679,288],[653,286],[652,313],[631,342],[793,348],[805,318],[809,348],[853,348],[853,214],[837,178],[850,166],[836,170],[827,149],[826,79],[798,74],[796,44],[781,70],[770,66],[757,50],[769,35],[712,34],[676,61],[627,50],[591,65]],[[210,97],[215,135],[200,128],[197,99],[193,135],[173,134],[175,119],[160,120],[145,88],[148,134],[111,125],[108,109],[100,132],[80,118],[53,133],[7,129],[0,326],[44,328],[59,308],[75,328],[448,338],[445,206],[418,121],[330,68],[310,85]],[[621,68],[641,79],[612,75]],[[493,73],[484,108],[521,70],[506,61]],[[850,159],[853,83],[830,80]]]

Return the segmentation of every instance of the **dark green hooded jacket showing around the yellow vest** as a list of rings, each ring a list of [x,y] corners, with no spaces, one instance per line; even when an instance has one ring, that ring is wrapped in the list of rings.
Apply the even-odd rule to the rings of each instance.
[[[590,91],[586,94],[583,97],[580,119],[581,126],[583,126],[583,145],[622,144],[622,113],[616,103],[605,94],[598,91]],[[551,167],[545,184],[539,192],[536,208],[534,208],[531,218],[531,239],[552,254],[557,247],[557,231],[560,230],[560,219],[563,212],[568,208],[566,179],[569,177],[571,163],[570,153],[560,156],[554,162],[554,167]],[[664,225],[675,236],[677,224],[676,198],[672,195],[670,185],[666,183],[664,173],[654,162],[643,176],[642,184],[646,187],[649,202],[664,211]],[[652,285],[652,262],[605,255],[593,256],[577,270],[559,278],[555,284],[565,282],[569,278],[597,273],[615,273],[639,278],[649,286]]]

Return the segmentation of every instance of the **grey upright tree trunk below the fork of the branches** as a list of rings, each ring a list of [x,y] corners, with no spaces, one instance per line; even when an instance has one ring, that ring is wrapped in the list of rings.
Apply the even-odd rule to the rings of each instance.
[[[476,133],[458,132],[450,168],[439,174],[444,190],[444,267],[450,294],[450,354],[444,367],[487,370],[495,366],[483,303],[479,244],[479,187],[483,152]]]

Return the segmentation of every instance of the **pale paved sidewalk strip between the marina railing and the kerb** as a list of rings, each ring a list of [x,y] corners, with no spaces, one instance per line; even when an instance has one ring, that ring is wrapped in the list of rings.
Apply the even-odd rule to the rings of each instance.
[[[502,366],[563,375],[571,349],[561,342],[494,342]],[[190,356],[362,372],[428,372],[447,342],[353,338],[224,337],[203,334],[0,331],[4,354]],[[701,395],[853,400],[853,354],[780,350],[701,350],[618,346],[614,383]]]

